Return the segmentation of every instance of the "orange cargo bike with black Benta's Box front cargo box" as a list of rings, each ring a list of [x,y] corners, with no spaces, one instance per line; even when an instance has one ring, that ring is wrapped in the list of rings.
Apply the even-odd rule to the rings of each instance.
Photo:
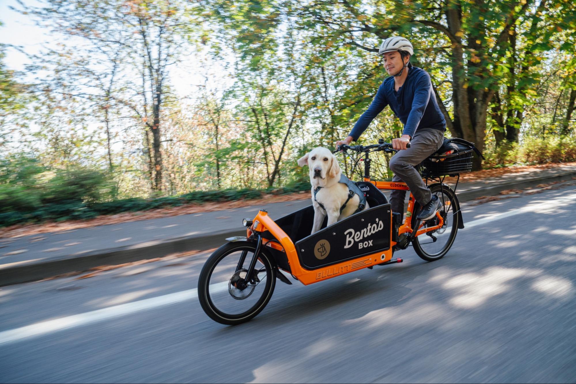
[[[340,149],[363,157],[364,177],[358,185],[370,208],[329,227],[326,218],[322,229],[312,235],[312,205],[278,219],[260,210],[255,218],[242,220],[246,236],[226,239],[228,243],[211,254],[200,272],[198,298],[210,318],[228,325],[251,320],[270,301],[276,279],[292,284],[281,271],[308,285],[374,265],[401,263],[401,258],[392,258],[393,250],[410,245],[426,261],[448,253],[464,225],[456,193],[443,181],[447,175],[459,180],[460,172],[471,169],[472,150],[437,153],[419,165],[420,174],[442,207],[432,219],[420,222],[416,219],[419,204],[410,194],[401,223],[400,214],[392,212],[380,190],[408,191],[407,185],[370,178],[369,153],[390,153],[394,151],[392,145],[380,139],[377,145]]]

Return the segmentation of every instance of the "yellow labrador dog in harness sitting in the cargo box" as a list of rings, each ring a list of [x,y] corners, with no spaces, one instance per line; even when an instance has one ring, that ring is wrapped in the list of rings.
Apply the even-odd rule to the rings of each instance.
[[[332,225],[358,210],[369,208],[362,191],[342,174],[338,159],[329,149],[317,147],[298,159],[298,165],[306,164],[310,169],[314,206],[312,233],[320,230],[326,215],[328,225]]]

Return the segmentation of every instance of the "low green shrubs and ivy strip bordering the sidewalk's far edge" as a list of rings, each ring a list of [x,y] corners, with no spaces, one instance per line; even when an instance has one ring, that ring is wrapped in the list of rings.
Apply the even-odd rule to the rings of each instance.
[[[306,191],[309,182],[281,188],[195,191],[156,199],[112,200],[108,173],[79,167],[52,172],[37,159],[10,157],[0,163],[0,226],[46,220],[91,219],[98,215],[146,211],[208,201],[258,199]]]

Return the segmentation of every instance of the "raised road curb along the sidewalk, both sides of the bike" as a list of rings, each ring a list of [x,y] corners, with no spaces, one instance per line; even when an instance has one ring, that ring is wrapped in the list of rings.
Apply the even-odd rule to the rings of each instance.
[[[528,180],[513,181],[505,184],[492,185],[477,189],[457,192],[460,201],[469,201],[481,196],[494,196],[506,189],[522,189],[538,184],[548,184],[554,181],[566,181],[576,176],[576,172],[565,172],[545,177],[535,177]],[[245,229],[223,230],[209,234],[196,234],[143,244],[124,246],[120,248],[97,250],[85,254],[62,256],[56,260],[35,260],[29,264],[0,265],[0,286],[32,282],[46,277],[61,275],[75,271],[86,271],[100,265],[116,265],[131,261],[163,257],[171,253],[189,252],[221,246],[224,239],[241,236]]]

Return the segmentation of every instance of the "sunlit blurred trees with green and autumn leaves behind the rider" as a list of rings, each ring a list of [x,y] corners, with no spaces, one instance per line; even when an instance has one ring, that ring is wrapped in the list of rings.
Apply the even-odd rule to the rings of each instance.
[[[31,188],[29,204],[46,203],[56,187],[29,183],[66,175],[100,191],[70,201],[294,185],[296,159],[332,148],[372,101],[392,35],[431,74],[447,135],[483,150],[476,169],[576,161],[570,0],[40,3],[17,10],[64,38],[17,71],[0,46],[0,159],[36,175],[3,177],[4,199]],[[361,142],[401,130],[385,109]],[[374,158],[376,177],[388,162]]]

